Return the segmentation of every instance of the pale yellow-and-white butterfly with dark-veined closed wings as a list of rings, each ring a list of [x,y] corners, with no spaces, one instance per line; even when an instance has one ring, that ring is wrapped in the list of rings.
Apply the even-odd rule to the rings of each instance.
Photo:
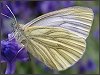
[[[15,31],[9,37],[16,38],[49,68],[62,71],[84,55],[93,17],[90,8],[68,7],[44,14],[25,25],[16,22]]]

